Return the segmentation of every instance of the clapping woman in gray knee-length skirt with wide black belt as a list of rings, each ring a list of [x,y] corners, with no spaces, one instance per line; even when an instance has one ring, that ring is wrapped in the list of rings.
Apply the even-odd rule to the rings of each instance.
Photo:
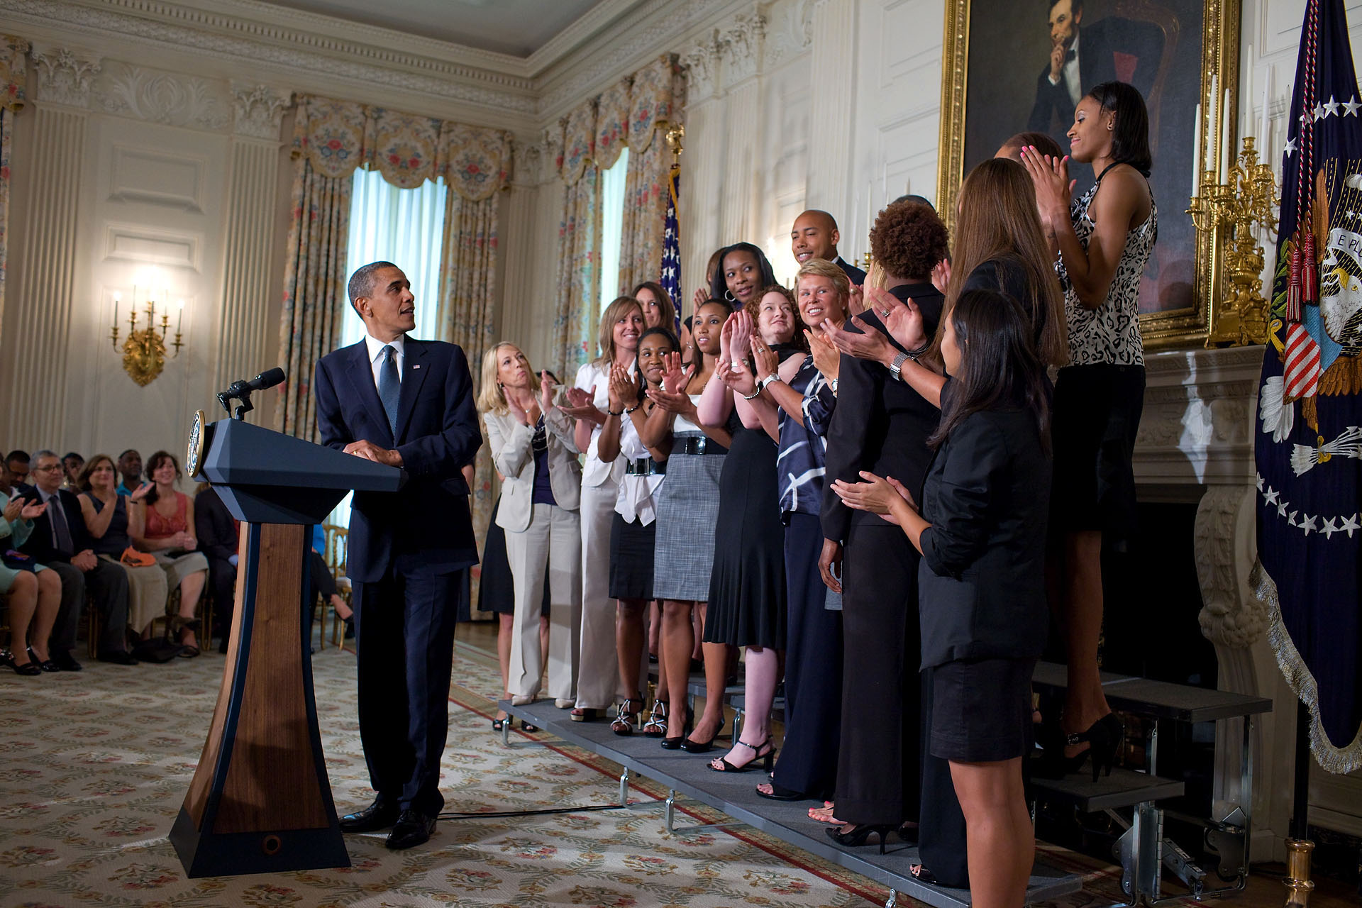
[[[695,354],[684,369],[681,355],[670,354],[662,387],[648,391],[658,406],[640,432],[643,444],[666,448],[667,481],[656,496],[656,543],[654,549],[652,595],[662,600],[662,666],[671,696],[667,734],[662,746],[676,750],[689,730],[685,712],[691,651],[695,629],[691,615],[710,598],[710,569],[714,564],[714,524],[719,515],[719,474],[729,453],[733,433],[727,427],[701,429],[696,402],[719,354],[719,331],[730,313],[722,299],[704,302],[695,314]],[[722,683],[722,682],[720,682]],[[722,708],[722,692],[706,690],[706,709]],[[712,707],[710,704],[714,704]]]

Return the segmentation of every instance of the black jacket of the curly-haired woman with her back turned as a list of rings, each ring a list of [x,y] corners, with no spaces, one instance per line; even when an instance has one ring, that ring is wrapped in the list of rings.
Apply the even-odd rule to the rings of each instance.
[[[941,320],[945,298],[930,283],[911,283],[893,287],[899,299],[913,298],[922,309],[928,336]],[[878,331],[895,347],[899,344],[880,323],[874,309],[857,320],[868,331]],[[859,331],[855,321],[847,321],[847,331]],[[902,347],[899,347],[902,350]],[[838,407],[828,427],[827,474],[823,489],[823,536],[846,542],[853,520],[869,520],[888,525],[878,515],[851,510],[832,491],[832,482],[861,482],[861,471],[902,482],[914,496],[922,489],[932,451],[928,436],[936,432],[941,411],[923,400],[910,385],[896,380],[889,370],[869,359],[843,355],[838,366]]]

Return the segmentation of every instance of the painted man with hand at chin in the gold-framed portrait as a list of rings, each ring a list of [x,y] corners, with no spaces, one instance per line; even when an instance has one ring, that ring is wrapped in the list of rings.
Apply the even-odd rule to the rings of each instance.
[[[1163,56],[1163,31],[1158,26],[1106,16],[1080,33],[1083,0],[1049,4],[1050,61],[1036,78],[1027,129],[1061,139],[1073,125],[1079,101],[1103,82],[1128,82],[1150,97]]]

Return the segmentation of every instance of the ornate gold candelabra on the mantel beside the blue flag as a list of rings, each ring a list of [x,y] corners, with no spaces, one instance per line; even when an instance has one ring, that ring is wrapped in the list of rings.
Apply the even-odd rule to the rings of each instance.
[[[1261,226],[1267,238],[1276,233],[1278,197],[1272,167],[1258,162],[1253,136],[1244,139],[1238,162],[1222,169],[1223,182],[1207,169],[1188,214],[1197,233],[1208,234],[1224,274],[1224,295],[1212,308],[1205,346],[1265,343],[1268,302],[1263,297],[1263,246],[1253,236]],[[1219,286],[1212,287],[1212,294]]]

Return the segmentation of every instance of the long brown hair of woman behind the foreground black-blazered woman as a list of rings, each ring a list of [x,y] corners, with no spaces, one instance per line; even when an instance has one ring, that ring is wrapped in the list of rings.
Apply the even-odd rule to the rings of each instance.
[[[1035,207],[1035,185],[1026,167],[1011,158],[983,161],[960,185],[955,260],[951,263],[944,312],[949,312],[959,299],[974,270],[993,260],[1011,261],[1026,275],[1031,299],[1017,302],[1031,304],[1031,329],[1041,362],[1056,368],[1068,365],[1069,329],[1064,317],[1064,294]]]

